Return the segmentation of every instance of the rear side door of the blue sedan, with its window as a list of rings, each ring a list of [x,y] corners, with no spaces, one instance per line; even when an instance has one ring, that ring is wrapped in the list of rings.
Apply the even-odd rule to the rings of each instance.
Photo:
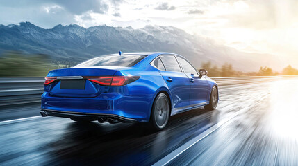
[[[190,80],[182,72],[174,55],[160,55],[160,59],[165,67],[165,71],[160,70],[160,74],[171,92],[174,113],[179,108],[189,105]]]

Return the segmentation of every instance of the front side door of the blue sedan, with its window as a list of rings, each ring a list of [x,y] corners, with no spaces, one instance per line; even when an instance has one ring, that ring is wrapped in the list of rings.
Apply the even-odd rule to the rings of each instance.
[[[208,81],[199,77],[197,70],[181,56],[176,56],[185,75],[190,79],[190,105],[206,104],[208,101]]]

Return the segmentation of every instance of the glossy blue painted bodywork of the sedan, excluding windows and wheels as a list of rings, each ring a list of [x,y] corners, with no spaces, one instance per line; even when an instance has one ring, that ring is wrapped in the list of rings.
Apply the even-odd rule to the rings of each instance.
[[[159,55],[172,53],[123,53],[146,55],[132,67],[65,68],[50,71],[47,77],[63,76],[140,76],[135,82],[124,86],[101,86],[86,80],[85,89],[60,89],[60,80],[44,86],[42,109],[78,113],[104,113],[149,121],[154,98],[158,93],[167,93],[174,115],[181,111],[208,104],[210,90],[217,84],[208,78],[195,77],[183,72],[161,71],[151,66]],[[171,77],[172,82],[167,82]],[[200,104],[201,103],[201,104]],[[203,104],[202,104],[203,103]]]

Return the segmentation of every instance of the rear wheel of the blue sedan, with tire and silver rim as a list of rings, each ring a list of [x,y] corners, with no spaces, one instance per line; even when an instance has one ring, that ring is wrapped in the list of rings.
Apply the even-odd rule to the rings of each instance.
[[[159,93],[152,106],[149,128],[154,131],[164,129],[169,121],[169,112],[170,105],[167,95],[165,93]]]

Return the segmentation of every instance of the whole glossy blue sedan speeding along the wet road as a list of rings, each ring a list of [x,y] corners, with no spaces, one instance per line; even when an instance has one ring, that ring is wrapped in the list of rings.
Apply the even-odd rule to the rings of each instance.
[[[169,116],[204,106],[217,107],[218,87],[181,55],[119,53],[73,68],[49,71],[42,94],[42,116],[76,122],[147,122],[165,128]]]

